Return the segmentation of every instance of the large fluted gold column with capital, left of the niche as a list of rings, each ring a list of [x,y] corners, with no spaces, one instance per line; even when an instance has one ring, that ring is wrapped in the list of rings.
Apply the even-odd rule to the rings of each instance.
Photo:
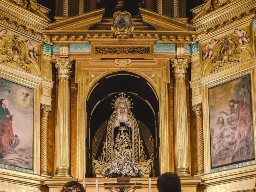
[[[70,86],[72,59],[57,58],[58,110],[56,136],[56,177],[71,177],[70,172]]]

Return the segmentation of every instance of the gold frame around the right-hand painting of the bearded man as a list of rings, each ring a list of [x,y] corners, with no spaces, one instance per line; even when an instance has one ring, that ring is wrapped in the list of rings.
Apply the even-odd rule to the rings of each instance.
[[[231,68],[231,67],[230,67]],[[221,70],[219,72],[215,72],[213,74],[210,74],[208,76],[205,76],[202,78],[202,104],[203,104],[203,119],[204,119],[204,164],[205,164],[205,170],[204,173],[208,174],[211,172],[217,172],[217,171],[224,171],[224,170],[232,170],[232,168],[239,168],[239,167],[243,167],[246,165],[250,165],[250,164],[255,164],[255,150],[254,150],[254,160],[248,160],[248,162],[246,162],[245,160],[241,160],[240,163],[239,162],[230,162],[230,163],[226,163],[226,164],[218,164],[215,166],[212,166],[212,156],[213,156],[213,151],[214,148],[211,145],[211,136],[213,136],[213,133],[210,132],[211,130],[211,126],[213,126],[213,122],[211,122],[211,116],[213,113],[213,111],[210,111],[211,109],[211,99],[214,97],[216,99],[219,100],[225,100],[224,103],[222,103],[222,105],[224,107],[228,107],[228,102],[226,102],[226,100],[232,100],[232,94],[227,94],[226,98],[223,99],[222,96],[210,96],[209,95],[209,90],[213,89],[213,88],[217,88],[218,86],[222,86],[224,84],[228,84],[230,82],[235,82],[238,80],[241,80],[243,77],[246,76],[250,76],[250,87],[251,87],[251,111],[252,111],[252,131],[253,131],[253,146],[255,149],[256,146],[256,140],[255,140],[255,132],[256,132],[256,106],[255,106],[255,66],[254,65],[250,65],[250,62],[248,62],[247,64],[244,63],[242,65],[236,64],[235,66],[232,66],[232,70],[230,68],[226,68],[224,70]],[[230,86],[230,88],[232,88],[232,86]],[[222,90],[220,88],[220,94],[222,94]],[[241,95],[240,95],[241,96]],[[212,98],[210,98],[212,97]],[[225,96],[224,96],[225,97]],[[230,98],[229,98],[230,97]],[[239,98],[237,100],[243,100],[244,96],[241,96],[242,98]],[[229,102],[230,102],[229,101]],[[228,118],[228,115],[226,116],[226,118]],[[221,115],[220,115],[221,116]],[[236,115],[233,114],[233,116],[236,117]],[[216,124],[218,124],[218,120],[216,120],[215,122]],[[236,144],[235,144],[236,145]],[[234,147],[235,149],[235,147]],[[234,172],[236,172],[236,170],[234,170]]]

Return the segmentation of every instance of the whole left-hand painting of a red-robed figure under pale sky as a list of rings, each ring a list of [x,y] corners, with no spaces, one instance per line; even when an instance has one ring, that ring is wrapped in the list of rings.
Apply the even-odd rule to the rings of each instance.
[[[6,168],[33,169],[33,119],[34,90],[0,78],[0,164]]]

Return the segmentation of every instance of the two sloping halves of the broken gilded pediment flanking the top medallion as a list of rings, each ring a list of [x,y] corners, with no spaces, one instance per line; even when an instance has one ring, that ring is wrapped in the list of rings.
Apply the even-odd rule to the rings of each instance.
[[[50,30],[110,30],[111,20],[108,18],[102,19],[105,8],[87,12],[78,16],[70,18],[62,18],[57,22],[49,24]],[[193,31],[194,26],[188,24],[184,19],[174,19],[168,16],[157,14],[150,10],[140,8],[143,24],[150,30],[163,30],[163,31]],[[138,20],[138,18],[132,18]],[[94,24],[94,28],[90,29]],[[148,25],[149,24],[149,25]],[[141,25],[141,23],[140,23]],[[134,25],[135,26],[135,25]],[[152,27],[153,26],[153,27]],[[136,28],[136,26],[135,26]],[[137,28],[138,29],[138,28]],[[139,29],[140,30],[140,29]]]

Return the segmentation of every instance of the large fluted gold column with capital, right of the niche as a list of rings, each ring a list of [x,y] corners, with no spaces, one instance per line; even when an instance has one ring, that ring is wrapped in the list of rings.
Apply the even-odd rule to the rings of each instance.
[[[186,105],[187,59],[172,59],[174,74],[174,172],[190,176],[188,168],[188,117]]]

